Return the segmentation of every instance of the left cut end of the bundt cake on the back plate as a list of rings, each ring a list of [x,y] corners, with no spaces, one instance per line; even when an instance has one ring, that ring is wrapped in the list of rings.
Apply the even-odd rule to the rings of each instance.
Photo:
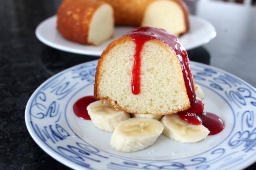
[[[57,12],[57,29],[71,41],[97,45],[114,34],[113,8],[97,0],[64,0]]]

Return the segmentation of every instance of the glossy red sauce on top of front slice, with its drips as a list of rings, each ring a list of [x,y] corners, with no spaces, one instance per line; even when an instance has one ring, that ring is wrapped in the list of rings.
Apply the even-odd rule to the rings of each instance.
[[[132,79],[133,94],[139,94],[140,92],[140,53],[142,47],[146,41],[151,39],[158,39],[167,44],[170,48],[172,48],[175,51],[176,55],[179,57],[189,101],[190,103],[195,102],[196,93],[194,90],[193,78],[190,71],[189,59],[187,57],[185,48],[182,46],[176,36],[169,34],[162,29],[155,29],[151,27],[139,27],[132,30],[131,32],[126,33],[126,35],[131,36],[136,44]]]

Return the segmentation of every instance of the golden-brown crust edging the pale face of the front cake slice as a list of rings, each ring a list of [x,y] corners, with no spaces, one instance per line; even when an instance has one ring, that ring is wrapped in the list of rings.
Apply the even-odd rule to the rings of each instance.
[[[109,96],[101,96],[101,95],[99,94],[99,82],[100,82],[100,79],[101,79],[101,77],[100,77],[100,72],[101,72],[102,63],[103,63],[104,60],[105,60],[105,56],[106,56],[106,55],[112,50],[112,48],[114,48],[116,45],[122,44],[122,43],[124,43],[124,42],[126,42],[126,41],[133,41],[133,40],[132,40],[132,37],[127,36],[127,35],[124,35],[124,36],[120,37],[119,39],[117,39],[117,40],[113,41],[112,43],[110,43],[110,44],[108,45],[108,47],[106,47],[106,49],[105,49],[105,50],[103,51],[103,53],[101,54],[101,57],[100,57],[100,59],[99,59],[99,61],[98,61],[98,65],[97,65],[97,68],[96,68],[95,84],[94,84],[94,96],[95,96],[95,98],[97,98],[97,99],[99,99],[99,100],[106,100],[106,101],[108,101],[108,102],[112,105],[112,107],[114,107],[114,108],[117,109],[117,110],[123,110],[123,111],[125,111],[125,112],[127,112],[127,113],[132,113],[132,114],[143,114],[143,113],[138,113],[138,112],[131,112],[129,109],[127,109],[127,108],[125,108],[125,107],[121,107],[121,106],[118,104],[117,101],[112,100]],[[156,40],[156,39],[153,39],[153,40],[151,40],[151,41],[154,41],[155,43],[158,43],[158,44],[160,44],[161,46],[163,46],[164,48],[166,48],[168,51],[172,51],[173,53],[175,53],[171,48],[169,48],[169,47],[167,46],[167,44],[165,44],[165,43],[163,43],[163,42],[161,42],[161,41],[159,41],[159,40]],[[178,59],[177,59],[177,63],[178,63],[178,62],[179,62],[179,61],[178,61]],[[178,64],[179,64],[179,63],[178,63]],[[181,74],[180,74],[179,76],[180,76],[180,77],[183,77],[182,72],[181,72]],[[184,82],[183,82],[183,83],[184,83]],[[185,84],[181,85],[180,88],[181,88],[181,90],[186,91]],[[188,96],[186,96],[186,103],[187,103],[187,105],[186,105],[185,107],[183,107],[182,109],[177,109],[177,110],[173,110],[172,112],[165,112],[165,113],[161,113],[161,114],[159,114],[159,113],[154,113],[154,114],[156,114],[156,115],[166,115],[166,114],[174,114],[174,113],[177,113],[177,112],[179,112],[179,111],[187,110],[188,108],[190,108],[190,102],[189,102]],[[146,112],[145,112],[144,114],[146,114]],[[150,114],[153,114],[153,113],[150,113]]]

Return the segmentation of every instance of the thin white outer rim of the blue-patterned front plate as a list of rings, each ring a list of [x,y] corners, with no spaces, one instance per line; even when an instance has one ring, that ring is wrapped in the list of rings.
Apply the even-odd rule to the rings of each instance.
[[[33,93],[31,94],[28,102],[27,102],[27,105],[26,105],[26,109],[25,109],[25,123],[26,123],[26,127],[27,127],[27,130],[30,134],[30,136],[33,138],[33,140],[36,142],[36,144],[44,151],[46,152],[48,155],[50,155],[52,158],[54,158],[55,160],[57,160],[58,162],[62,163],[62,164],[65,164],[66,166],[70,167],[70,168],[75,168],[75,169],[81,169],[81,168],[87,168],[87,167],[84,167],[84,166],[81,166],[69,159],[66,159],[64,157],[61,157],[60,155],[58,155],[56,152],[54,152],[52,150],[51,147],[49,147],[48,145],[45,145],[44,143],[42,143],[40,141],[40,139],[38,138],[38,136],[35,135],[33,129],[30,127],[30,122],[29,122],[29,105],[31,104],[32,102],[32,99],[33,97],[35,96],[36,92],[42,87],[44,86],[48,81],[50,81],[51,79],[54,79],[55,77],[57,76],[61,76],[63,74],[65,74],[65,72],[69,71],[70,69],[74,68],[74,67],[78,67],[79,65],[84,65],[85,63],[94,63],[94,62],[97,62],[98,60],[92,60],[92,61],[89,61],[89,62],[84,62],[84,63],[81,63],[81,64],[77,64],[75,66],[72,66],[72,67],[69,67],[67,69],[64,69],[60,72],[58,72],[57,74],[51,76],[50,78],[48,78],[47,80],[45,80],[44,82],[42,82],[34,91]],[[199,62],[195,62],[195,61],[191,61],[191,63],[193,64],[199,64],[199,65],[203,65],[203,66],[206,66],[206,67],[212,67],[212,68],[215,68],[216,70],[224,73],[224,74],[228,74],[228,75],[232,75],[233,77],[237,78],[238,80],[240,80],[241,82],[243,82],[247,87],[249,87],[254,93],[256,93],[256,89],[249,83],[247,83],[246,81],[244,81],[243,79],[223,70],[223,69],[220,69],[220,68],[217,68],[215,66],[211,66],[211,65],[207,65],[207,64],[203,64],[203,63],[199,63]],[[254,153],[254,155],[256,155],[256,153]],[[253,155],[253,156],[254,156]],[[194,156],[194,155],[193,155]],[[176,159],[177,160],[177,159]],[[235,169],[239,169],[239,168],[246,168],[248,167],[249,165],[251,165],[252,163],[254,163],[256,161],[256,158],[253,160],[253,159],[249,159],[246,160],[246,164],[240,164],[240,165],[236,165],[237,167]],[[238,168],[239,167],[239,168]],[[230,168],[230,167],[229,167]]]

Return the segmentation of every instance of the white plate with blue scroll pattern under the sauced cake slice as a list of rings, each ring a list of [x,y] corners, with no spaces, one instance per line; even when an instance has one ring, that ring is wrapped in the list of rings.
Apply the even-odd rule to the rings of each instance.
[[[205,92],[205,111],[219,115],[225,129],[197,143],[161,135],[149,148],[121,153],[110,147],[111,133],[73,113],[73,104],[93,94],[97,61],[53,76],[28,101],[30,135],[50,156],[74,169],[242,169],[256,161],[256,91],[243,80],[191,62],[195,81]]]

